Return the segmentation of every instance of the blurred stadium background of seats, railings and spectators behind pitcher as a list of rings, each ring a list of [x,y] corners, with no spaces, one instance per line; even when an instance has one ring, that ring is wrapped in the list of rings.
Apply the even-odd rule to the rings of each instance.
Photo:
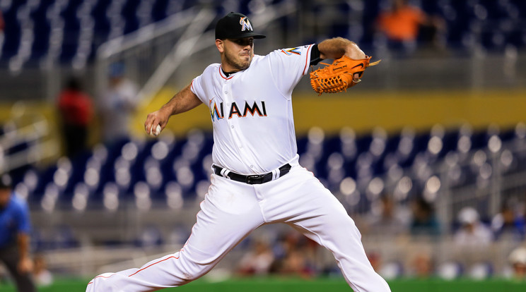
[[[185,243],[209,113],[157,139],[142,125],[219,61],[230,11],[267,35],[256,54],[341,36],[382,59],[349,92],[316,97],[303,78],[293,94],[300,164],[380,274],[526,279],[526,1],[0,0],[0,174],[28,205],[39,283]],[[288,226],[258,229],[210,276],[267,274],[340,276]]]

